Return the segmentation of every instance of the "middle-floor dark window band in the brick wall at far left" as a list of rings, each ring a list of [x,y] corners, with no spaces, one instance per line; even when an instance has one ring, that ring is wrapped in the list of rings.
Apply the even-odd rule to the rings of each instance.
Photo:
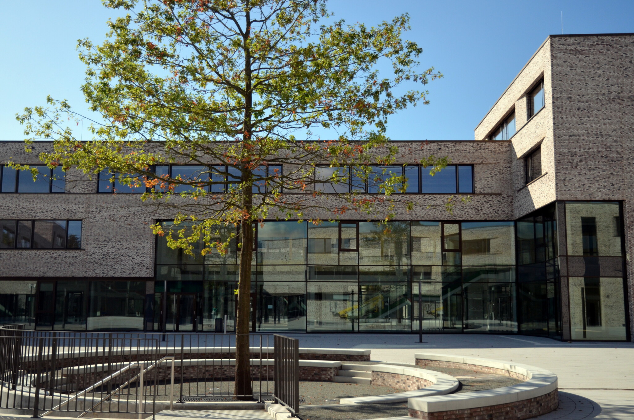
[[[81,249],[81,220],[0,220],[0,249]]]

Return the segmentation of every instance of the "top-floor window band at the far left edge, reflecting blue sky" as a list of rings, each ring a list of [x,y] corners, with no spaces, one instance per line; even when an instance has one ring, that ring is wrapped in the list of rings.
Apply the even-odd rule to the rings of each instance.
[[[65,192],[65,173],[61,166],[51,169],[45,165],[33,166],[39,173],[36,180],[30,171],[18,171],[13,167],[0,165],[0,192],[19,193],[60,193]]]

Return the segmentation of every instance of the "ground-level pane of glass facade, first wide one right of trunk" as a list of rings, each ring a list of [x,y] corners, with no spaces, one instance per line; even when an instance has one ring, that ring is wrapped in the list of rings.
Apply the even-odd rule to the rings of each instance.
[[[257,331],[306,331],[306,282],[258,282]]]

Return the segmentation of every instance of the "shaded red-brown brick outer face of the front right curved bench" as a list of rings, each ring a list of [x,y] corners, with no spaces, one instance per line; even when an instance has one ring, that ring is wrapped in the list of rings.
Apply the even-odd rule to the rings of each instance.
[[[555,390],[528,400],[475,409],[431,413],[410,409],[410,417],[423,420],[524,420],[547,414],[557,409],[557,405],[559,405],[559,397]]]

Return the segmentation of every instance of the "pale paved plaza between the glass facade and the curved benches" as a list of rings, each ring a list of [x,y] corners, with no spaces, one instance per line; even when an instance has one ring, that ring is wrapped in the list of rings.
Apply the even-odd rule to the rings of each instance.
[[[529,336],[465,334],[289,334],[300,347],[370,348],[372,360],[413,363],[422,351],[535,365],[559,376],[553,419],[634,419],[634,343],[566,343]]]

